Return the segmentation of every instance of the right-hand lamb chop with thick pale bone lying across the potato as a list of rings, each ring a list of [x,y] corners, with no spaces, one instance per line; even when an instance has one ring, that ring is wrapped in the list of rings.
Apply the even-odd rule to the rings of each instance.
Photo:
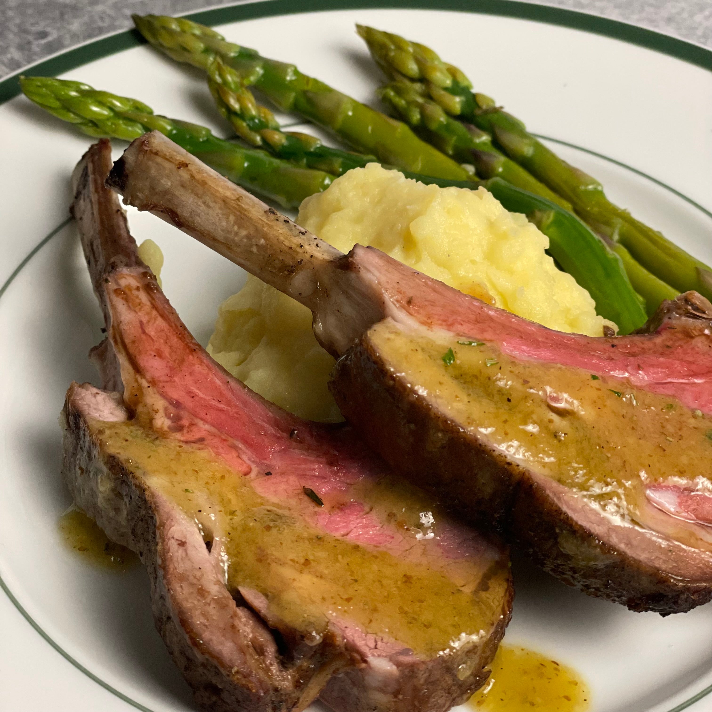
[[[587,594],[661,614],[712,596],[712,307],[557,333],[348,255],[157,133],[108,184],[308,306],[342,413],[409,481]]]

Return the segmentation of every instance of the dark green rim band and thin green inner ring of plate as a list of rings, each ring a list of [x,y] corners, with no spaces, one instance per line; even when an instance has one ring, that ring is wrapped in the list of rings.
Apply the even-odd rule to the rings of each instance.
[[[595,15],[590,15],[574,10],[557,7],[530,4],[518,0],[439,0],[434,7],[433,0],[260,0],[248,2],[246,4],[229,5],[211,10],[203,10],[187,14],[190,19],[204,25],[220,25],[241,20],[251,20],[263,17],[278,15],[303,14],[309,12],[320,12],[329,10],[365,10],[365,9],[408,9],[408,10],[433,10],[437,11],[460,11],[471,14],[496,15],[500,17],[510,17],[522,20],[531,20],[581,30],[588,33],[599,34],[609,38],[617,39],[629,44],[641,46],[656,52],[664,53],[679,60],[689,62],[693,65],[712,71],[712,51],[705,47],[698,46],[675,37],[648,30],[642,27],[629,25],[617,20],[611,20]],[[110,56],[125,49],[146,44],[146,41],[135,30],[126,30],[97,40],[89,41],[73,49],[59,53],[56,56],[33,64],[29,67],[10,75],[0,82],[0,104],[9,101],[20,93],[19,76],[56,76],[75,69],[84,64],[88,64],[103,57]],[[654,182],[660,187],[675,194],[677,197],[688,202],[706,216],[712,218],[712,212],[699,205],[695,201],[684,196],[674,188],[660,182],[659,180],[640,172],[639,170],[627,166],[615,159],[590,151],[586,148],[559,141],[550,137],[542,137],[550,141],[555,141],[562,145],[585,151],[604,160],[627,168],[630,171]],[[36,255],[36,253],[48,243],[48,241],[60,233],[70,222],[70,219],[63,221],[51,233],[45,236],[41,242],[28,253],[28,256],[17,266],[11,276],[3,286],[0,287],[0,297],[5,293],[11,282],[20,273],[22,268]],[[22,604],[13,595],[6,583],[0,577],[0,588],[5,592],[14,606],[19,610],[27,622],[48,642],[61,656],[69,661],[76,669],[83,672],[90,679],[102,686],[105,690],[114,694],[125,703],[135,707],[142,712],[152,712],[141,703],[132,700],[124,693],[113,688],[110,684],[100,679],[90,670],[86,669],[78,660],[75,660],[68,652],[61,648],[31,617]],[[712,685],[699,691],[691,698],[667,710],[666,712],[682,712],[689,706],[712,693]]]

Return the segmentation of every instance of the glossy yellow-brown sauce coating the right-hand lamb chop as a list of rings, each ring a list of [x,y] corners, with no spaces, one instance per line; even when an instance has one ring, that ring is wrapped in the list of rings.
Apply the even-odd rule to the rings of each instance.
[[[639,522],[644,486],[712,473],[711,419],[670,396],[573,367],[515,360],[489,344],[459,348],[443,370],[440,357],[456,337],[408,333],[387,322],[372,327],[369,338],[441,412],[612,516]],[[685,537],[712,548],[693,533]]]

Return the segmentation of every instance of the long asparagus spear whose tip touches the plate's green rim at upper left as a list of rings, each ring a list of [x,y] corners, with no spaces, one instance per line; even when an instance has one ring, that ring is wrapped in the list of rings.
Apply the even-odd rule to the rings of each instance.
[[[236,70],[243,85],[254,86],[281,110],[298,112],[325,127],[357,151],[427,175],[470,177],[465,168],[419,139],[403,122],[302,74],[293,64],[261,57],[190,20],[157,15],[134,15],[133,19],[140,33],[169,57],[207,70],[218,55]]]

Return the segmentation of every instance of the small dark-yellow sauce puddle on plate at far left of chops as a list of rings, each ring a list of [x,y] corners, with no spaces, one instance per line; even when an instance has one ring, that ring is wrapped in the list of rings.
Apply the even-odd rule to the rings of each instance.
[[[112,542],[97,523],[79,509],[71,508],[59,518],[59,530],[68,547],[95,565],[125,571],[139,561],[135,553]]]

